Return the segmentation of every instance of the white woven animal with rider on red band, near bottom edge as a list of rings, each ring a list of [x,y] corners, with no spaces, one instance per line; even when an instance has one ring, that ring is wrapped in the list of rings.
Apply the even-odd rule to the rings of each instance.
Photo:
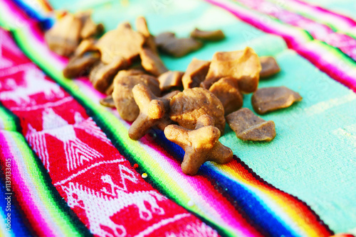
[[[123,165],[121,166],[124,167]],[[101,180],[110,186],[109,190],[111,192],[108,192],[104,187],[100,192],[97,192],[73,182],[70,182],[68,186],[62,186],[63,191],[67,194],[68,206],[71,208],[79,206],[85,210],[85,215],[90,225],[90,232],[94,235],[126,236],[125,227],[116,224],[110,218],[131,205],[137,207],[140,219],[144,221],[150,221],[152,213],[158,215],[164,214],[164,210],[157,204],[157,201],[166,199],[161,194],[155,191],[126,192],[125,184],[122,185],[123,187],[120,187],[112,181],[110,175],[103,175]],[[150,210],[145,206],[145,202],[150,204]],[[108,231],[105,231],[106,228],[103,229],[101,226],[110,228],[114,234],[108,233]]]

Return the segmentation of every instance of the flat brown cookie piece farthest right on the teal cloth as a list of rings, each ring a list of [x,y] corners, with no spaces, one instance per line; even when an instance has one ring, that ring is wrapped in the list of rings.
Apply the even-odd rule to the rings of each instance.
[[[287,108],[302,99],[298,92],[293,92],[287,87],[266,87],[253,93],[251,103],[257,114],[266,114],[269,111]]]

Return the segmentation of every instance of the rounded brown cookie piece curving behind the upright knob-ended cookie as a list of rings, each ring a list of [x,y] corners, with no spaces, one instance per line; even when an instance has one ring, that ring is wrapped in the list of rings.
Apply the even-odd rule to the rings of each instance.
[[[144,84],[149,87],[153,94],[159,96],[159,82],[156,77],[150,75],[127,75],[124,70],[117,73],[113,86],[112,99],[114,99],[115,107],[122,119],[126,121],[135,121],[140,114],[140,109],[137,106],[132,94],[132,88],[136,84]]]

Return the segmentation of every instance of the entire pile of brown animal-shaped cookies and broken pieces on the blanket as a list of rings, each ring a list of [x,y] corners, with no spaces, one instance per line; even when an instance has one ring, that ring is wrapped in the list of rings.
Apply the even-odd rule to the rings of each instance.
[[[241,140],[271,141],[276,136],[273,121],[241,109],[244,94],[253,93],[258,114],[302,99],[286,87],[258,89],[260,77],[280,68],[273,57],[258,57],[248,47],[217,52],[211,61],[194,58],[185,72],[169,71],[159,57],[159,51],[187,55],[206,40],[224,39],[222,31],[196,28],[189,38],[169,32],[153,36],[143,17],[137,18],[136,28],[121,23],[98,38],[103,26],[93,23],[90,13],[65,13],[46,33],[46,42],[54,52],[70,57],[63,75],[89,75],[93,87],[108,95],[100,104],[115,107],[122,119],[132,122],[131,139],[158,128],[181,146],[187,175],[195,175],[208,160],[224,164],[233,158],[231,149],[219,142],[226,121]]]

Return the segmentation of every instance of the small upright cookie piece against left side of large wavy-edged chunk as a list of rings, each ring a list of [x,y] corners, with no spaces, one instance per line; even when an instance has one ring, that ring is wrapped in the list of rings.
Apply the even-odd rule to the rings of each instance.
[[[198,60],[194,57],[182,78],[184,89],[199,87],[199,84],[204,81],[209,71],[209,66],[210,61]]]

